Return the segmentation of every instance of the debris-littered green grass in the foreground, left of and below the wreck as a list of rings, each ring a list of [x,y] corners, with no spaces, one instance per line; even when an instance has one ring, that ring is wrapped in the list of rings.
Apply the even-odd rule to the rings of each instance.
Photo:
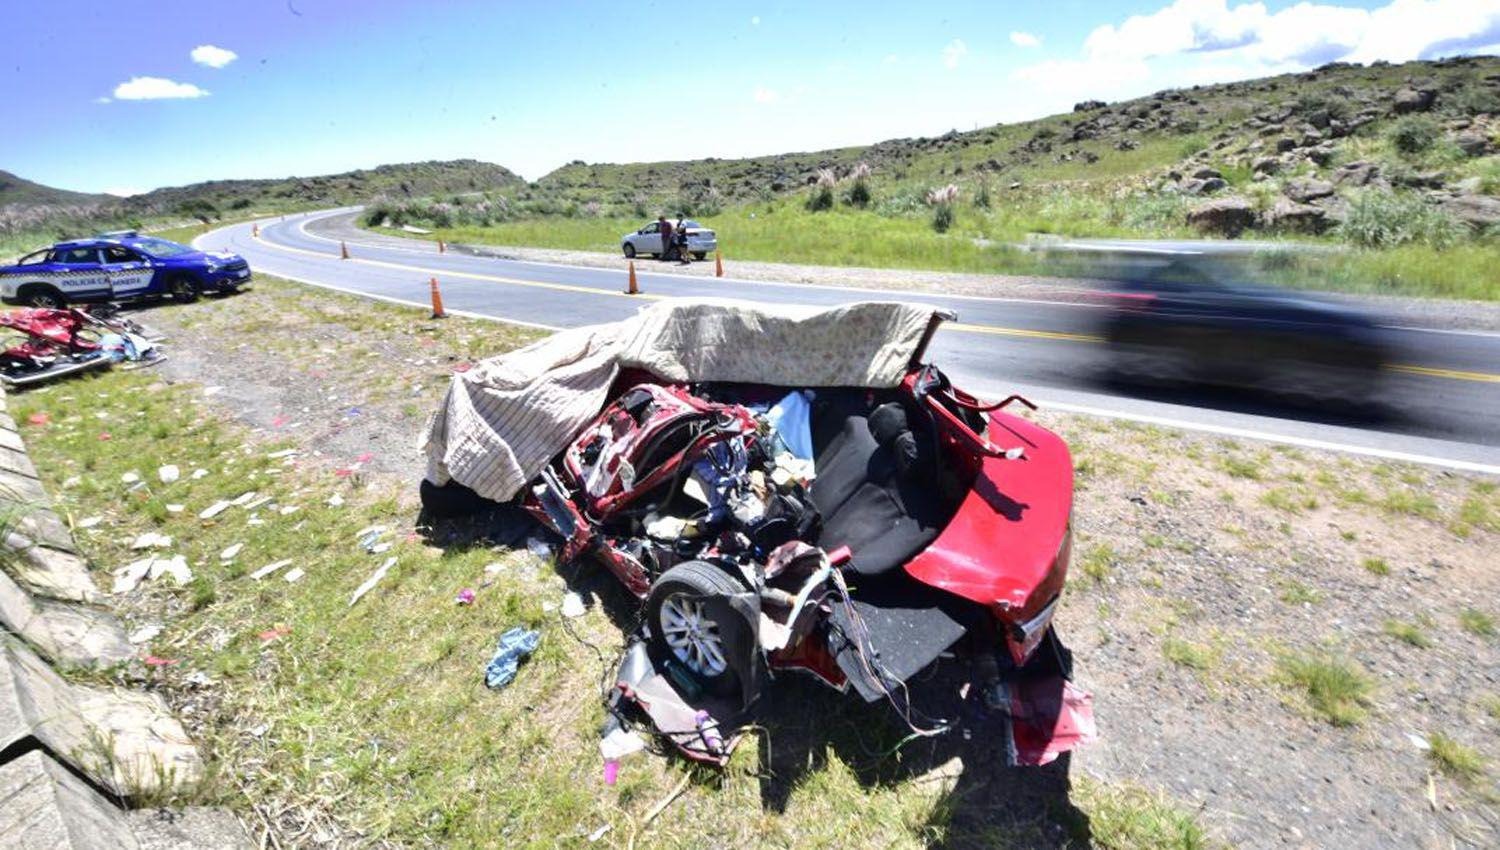
[[[303,301],[300,324],[255,324],[267,307],[286,312],[291,300]],[[320,300],[321,312],[312,310]],[[396,307],[278,280],[264,280],[254,295],[166,310],[194,333],[232,328],[256,339],[240,357],[258,369],[291,357],[282,334],[312,355],[312,345],[330,339],[328,325],[358,327],[368,340],[426,324]],[[436,346],[460,352],[476,336],[490,351],[501,348],[496,330],[448,319],[430,333],[440,334]],[[348,364],[330,369],[327,391],[370,375],[351,351],[327,348],[322,360]],[[814,708],[818,723],[748,741],[724,774],[634,757],[609,789],[596,750],[600,658],[564,628],[556,613],[564,577],[550,564],[524,549],[429,546],[412,534],[410,480],[369,471],[352,451],[303,430],[248,429],[201,387],[168,384],[150,370],[58,384],[12,396],[10,405],[22,423],[48,414],[46,424],[27,426],[26,439],[58,508],[75,526],[90,526],[80,528],[78,541],[100,570],[140,558],[130,543],[146,531],[170,535],[164,552],[188,558],[190,583],[162,579],[118,604],[130,630],[164,627],[141,651],[170,664],[146,675],[186,711],[214,765],[206,795],[252,823],[268,820],[284,846],[352,832],[396,846],[554,847],[584,844],[606,825],[602,844],[618,847],[1029,847],[1084,831],[1104,847],[1209,844],[1196,816],[1168,798],[1080,772],[1076,810],[1022,823],[1004,810],[969,811],[966,793],[950,795],[951,783],[903,771],[903,756],[872,760],[868,753],[900,741],[894,726],[872,727],[868,712],[795,682],[798,712]],[[297,451],[279,456],[285,450]],[[158,475],[168,463],[182,471],[174,483]],[[124,483],[132,472],[146,484]],[[248,492],[256,495],[246,505],[200,519]],[[388,552],[360,547],[358,532],[372,525],[390,528]],[[225,561],[232,546],[240,549]],[[394,567],[350,607],[352,589],[386,558]],[[250,577],[282,559],[292,562]],[[288,583],[291,570],[304,577]],[[111,579],[100,573],[99,582]],[[454,606],[462,588],[478,589],[474,606]],[[582,589],[618,603],[608,583]],[[606,607],[596,600],[568,627],[608,657],[621,630]],[[488,691],[482,669],[496,636],[518,624],[540,628],[542,648],[514,684]],[[788,765],[783,748],[795,745],[784,736],[810,738],[807,765]],[[768,763],[776,766],[770,774]],[[682,796],[645,823],[681,783]],[[784,795],[782,811],[766,808],[770,787]]]

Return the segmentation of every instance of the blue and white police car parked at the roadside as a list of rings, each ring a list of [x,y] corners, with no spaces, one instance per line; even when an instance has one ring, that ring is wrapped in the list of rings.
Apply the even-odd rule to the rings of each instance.
[[[33,307],[148,295],[186,303],[201,292],[228,294],[249,282],[250,265],[236,253],[117,231],[60,241],[0,267],[0,298]]]

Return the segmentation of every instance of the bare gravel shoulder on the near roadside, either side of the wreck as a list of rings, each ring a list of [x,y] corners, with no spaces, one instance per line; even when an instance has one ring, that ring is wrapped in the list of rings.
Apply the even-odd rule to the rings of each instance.
[[[328,463],[370,453],[366,474],[412,495],[454,367],[534,334],[274,280],[142,319],[171,339],[164,379]],[[1077,466],[1059,628],[1101,741],[1076,778],[1158,790],[1242,847],[1500,841],[1500,481],[1041,418]],[[1302,661],[1368,685],[1353,714],[1330,718],[1290,672]],[[1436,757],[1434,736],[1480,772]]]

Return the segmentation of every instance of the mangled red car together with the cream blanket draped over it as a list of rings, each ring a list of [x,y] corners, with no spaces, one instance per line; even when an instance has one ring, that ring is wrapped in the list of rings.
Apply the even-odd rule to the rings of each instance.
[[[950,724],[909,685],[952,660],[1016,765],[1094,738],[1053,616],[1072,462],[922,354],[948,315],[662,301],[456,375],[432,418],[429,510],[514,502],[644,603],[609,694],[722,763],[800,672]]]

